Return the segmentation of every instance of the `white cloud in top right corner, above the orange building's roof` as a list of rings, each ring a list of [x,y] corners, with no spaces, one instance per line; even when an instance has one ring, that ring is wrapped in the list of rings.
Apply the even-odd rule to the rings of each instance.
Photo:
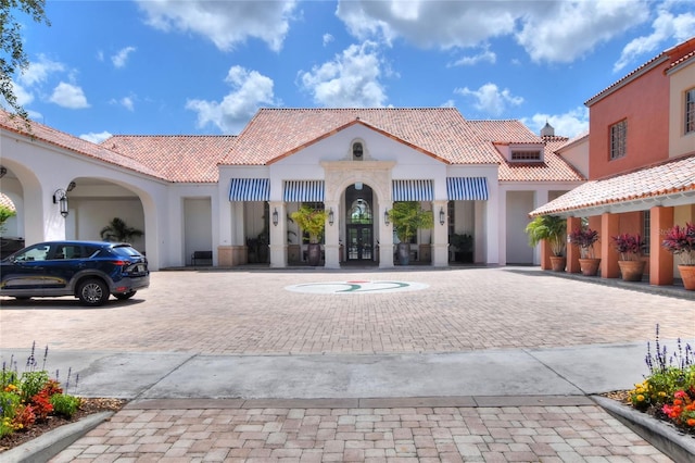
[[[652,34],[632,39],[622,49],[620,59],[612,67],[614,72],[621,71],[645,53],[656,54],[661,51],[659,47],[671,37],[682,41],[695,35],[695,15],[690,12],[673,15],[667,10],[668,5],[667,3],[658,9],[657,17],[652,23]]]

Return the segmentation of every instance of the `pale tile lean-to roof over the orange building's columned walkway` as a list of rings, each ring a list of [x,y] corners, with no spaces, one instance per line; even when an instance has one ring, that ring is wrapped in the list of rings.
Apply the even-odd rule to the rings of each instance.
[[[683,191],[695,191],[695,154],[628,174],[587,182],[534,210],[530,215],[558,214]]]

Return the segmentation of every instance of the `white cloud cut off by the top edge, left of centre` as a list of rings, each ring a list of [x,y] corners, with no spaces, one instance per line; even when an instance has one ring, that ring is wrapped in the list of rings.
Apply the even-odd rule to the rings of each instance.
[[[279,51],[296,1],[138,0],[138,4],[152,27],[199,34],[223,51],[232,50],[249,37]]]

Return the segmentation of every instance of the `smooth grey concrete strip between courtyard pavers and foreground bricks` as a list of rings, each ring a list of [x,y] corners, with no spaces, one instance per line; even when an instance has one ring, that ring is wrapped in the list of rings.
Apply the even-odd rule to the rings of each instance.
[[[375,355],[52,351],[50,367],[79,372],[83,397],[128,400],[584,396],[632,388],[647,373],[644,353],[643,343]]]

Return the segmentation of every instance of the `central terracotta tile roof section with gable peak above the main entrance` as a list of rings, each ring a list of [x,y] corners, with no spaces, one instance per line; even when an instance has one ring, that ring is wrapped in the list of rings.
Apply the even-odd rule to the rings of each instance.
[[[273,163],[354,124],[363,124],[452,164],[496,164],[495,150],[455,108],[262,109],[225,164]]]

